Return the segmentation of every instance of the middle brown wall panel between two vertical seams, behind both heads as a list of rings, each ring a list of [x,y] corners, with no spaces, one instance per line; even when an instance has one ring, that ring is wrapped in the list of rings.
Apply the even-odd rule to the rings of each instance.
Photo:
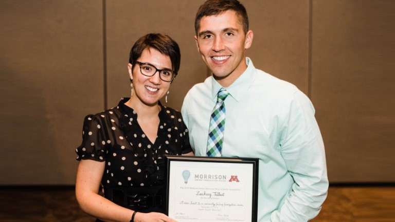
[[[107,84],[108,106],[129,96],[126,64],[129,51],[139,36],[163,32],[175,39],[182,52],[181,69],[170,87],[169,102],[181,108],[190,87],[202,82],[207,69],[193,40],[194,16],[204,1],[107,1]],[[308,1],[242,1],[250,28],[255,33],[247,55],[256,67],[290,81],[307,93],[308,88]],[[147,10],[147,5],[149,9]],[[169,12],[167,16],[163,13]]]

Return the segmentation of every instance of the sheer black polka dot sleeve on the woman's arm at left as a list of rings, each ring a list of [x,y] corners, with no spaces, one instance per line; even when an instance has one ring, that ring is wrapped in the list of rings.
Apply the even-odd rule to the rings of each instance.
[[[106,160],[106,127],[97,115],[87,115],[82,130],[82,143],[77,147],[77,160]]]

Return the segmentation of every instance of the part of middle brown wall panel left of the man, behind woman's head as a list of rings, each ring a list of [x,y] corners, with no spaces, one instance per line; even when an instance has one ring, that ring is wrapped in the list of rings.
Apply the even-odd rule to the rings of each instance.
[[[121,97],[130,97],[127,70],[129,52],[134,42],[150,32],[168,34],[181,49],[181,68],[170,86],[168,103],[180,110],[184,96],[196,83],[207,77],[207,68],[197,52],[194,16],[204,1],[107,1],[107,86],[108,105],[118,104]]]

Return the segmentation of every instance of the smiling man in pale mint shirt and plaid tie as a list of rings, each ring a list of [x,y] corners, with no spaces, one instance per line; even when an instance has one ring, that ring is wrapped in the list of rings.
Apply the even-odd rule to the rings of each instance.
[[[197,49],[212,71],[190,89],[182,107],[195,155],[259,158],[258,221],[314,218],[327,196],[328,177],[311,101],[246,58],[254,34],[237,0],[205,2],[195,32]],[[217,95],[225,108],[221,101],[216,106]],[[214,106],[224,116],[218,117],[222,125],[215,125]],[[209,136],[213,128],[223,137]]]

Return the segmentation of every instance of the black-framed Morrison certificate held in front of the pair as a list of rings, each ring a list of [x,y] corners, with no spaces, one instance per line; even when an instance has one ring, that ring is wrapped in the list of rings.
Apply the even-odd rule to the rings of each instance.
[[[257,221],[258,159],[167,156],[167,215],[178,222]]]

